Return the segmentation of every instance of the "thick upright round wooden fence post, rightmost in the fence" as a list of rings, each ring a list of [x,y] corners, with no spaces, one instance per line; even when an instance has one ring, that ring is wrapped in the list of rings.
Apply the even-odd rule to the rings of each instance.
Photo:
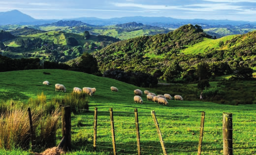
[[[223,155],[233,155],[232,113],[223,113]]]

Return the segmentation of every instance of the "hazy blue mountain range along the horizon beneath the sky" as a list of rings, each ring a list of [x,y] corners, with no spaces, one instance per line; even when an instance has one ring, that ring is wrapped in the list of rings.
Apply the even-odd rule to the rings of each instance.
[[[203,19],[175,19],[171,17],[122,17],[111,19],[100,19],[95,17],[81,17],[72,19],[62,19],[63,21],[80,21],[89,25],[96,26],[108,26],[124,24],[129,22],[142,23],[151,26],[158,26],[163,28],[178,28],[186,24],[198,24],[198,25],[256,25],[256,22],[248,21],[230,21],[230,20],[203,20]],[[0,25],[43,25],[51,24],[59,20],[40,20],[34,19],[29,15],[26,15],[18,10],[12,10],[7,12],[0,12]]]

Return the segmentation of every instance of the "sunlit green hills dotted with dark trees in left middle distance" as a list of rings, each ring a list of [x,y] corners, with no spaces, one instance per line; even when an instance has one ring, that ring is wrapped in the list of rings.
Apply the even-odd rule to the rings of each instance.
[[[83,52],[92,53],[120,40],[106,35],[90,35],[90,38],[84,39],[83,34],[46,32],[30,28],[17,29],[14,33],[22,35],[4,41],[1,55],[10,58],[40,58],[55,62],[67,62],[81,56]],[[69,38],[73,38],[77,43],[71,44]]]

